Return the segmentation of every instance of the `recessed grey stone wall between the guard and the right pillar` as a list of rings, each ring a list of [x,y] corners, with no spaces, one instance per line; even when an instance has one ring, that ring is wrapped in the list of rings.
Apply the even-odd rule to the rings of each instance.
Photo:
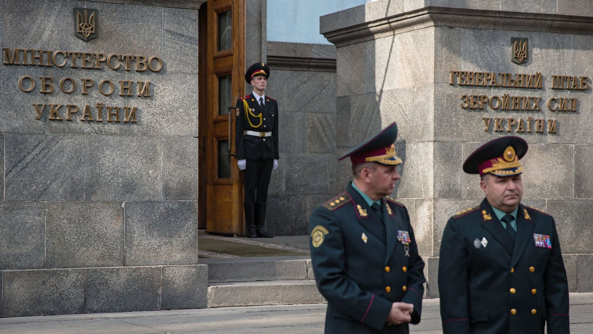
[[[280,159],[272,172],[267,231],[307,234],[315,206],[336,193],[336,48],[267,42],[270,80],[278,100]]]

